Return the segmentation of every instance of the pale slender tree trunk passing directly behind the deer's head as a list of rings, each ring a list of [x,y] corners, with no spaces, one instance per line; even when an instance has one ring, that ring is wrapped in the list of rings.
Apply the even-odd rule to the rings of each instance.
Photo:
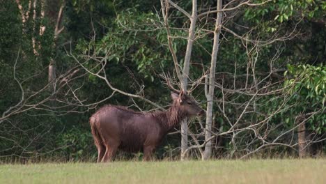
[[[187,91],[188,77],[189,77],[189,65],[192,57],[192,45],[194,43],[194,36],[196,33],[196,20],[197,20],[197,1],[192,1],[192,15],[189,17],[190,26],[188,34],[188,43],[185,53],[185,61],[183,63],[183,81],[181,82],[184,91]],[[185,150],[188,148],[188,124],[187,119],[181,122],[181,160],[185,160],[187,155]]]

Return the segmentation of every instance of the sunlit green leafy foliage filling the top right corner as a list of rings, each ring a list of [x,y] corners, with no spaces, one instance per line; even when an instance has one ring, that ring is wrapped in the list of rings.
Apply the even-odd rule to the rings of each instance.
[[[287,60],[295,65],[308,61],[309,64],[315,65],[325,62],[325,15],[326,3],[323,0],[275,0],[265,3],[264,6],[247,8],[244,20],[248,22],[243,24],[255,28],[255,33],[251,33],[252,38],[292,38],[286,42],[286,49],[279,61]],[[275,48],[271,47],[271,51],[273,49]],[[284,62],[280,64],[284,65]]]

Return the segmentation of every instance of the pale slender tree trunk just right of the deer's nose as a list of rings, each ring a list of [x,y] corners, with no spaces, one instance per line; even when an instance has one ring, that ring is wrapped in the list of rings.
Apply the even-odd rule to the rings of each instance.
[[[207,110],[206,110],[206,125],[205,125],[205,151],[202,155],[202,160],[208,160],[212,155],[212,107],[213,107],[213,98],[214,98],[214,88],[215,88],[215,68],[217,60],[217,52],[219,51],[219,34],[221,33],[222,26],[222,0],[217,0],[217,19],[215,22],[215,31],[214,31],[214,41],[212,47],[212,58],[210,61],[210,77],[206,79],[208,86],[205,86],[205,95],[207,98]],[[207,85],[207,84],[206,84]]]

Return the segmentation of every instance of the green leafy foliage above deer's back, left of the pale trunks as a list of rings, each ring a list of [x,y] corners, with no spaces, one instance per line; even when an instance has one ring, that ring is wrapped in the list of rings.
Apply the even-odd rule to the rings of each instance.
[[[136,9],[126,9],[118,13],[112,29],[98,43],[95,43],[96,54],[103,55],[108,51],[109,62],[132,63],[144,78],[150,77],[153,82],[153,70],[160,70],[171,63],[171,54],[163,46],[166,41],[164,29],[155,30],[153,24],[158,17],[153,13],[137,13]],[[156,47],[153,47],[156,45]],[[183,44],[175,43],[173,47]]]

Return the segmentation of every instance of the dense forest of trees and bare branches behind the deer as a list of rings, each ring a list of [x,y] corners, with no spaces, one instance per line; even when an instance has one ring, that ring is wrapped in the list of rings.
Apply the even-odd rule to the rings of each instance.
[[[157,159],[325,155],[325,1],[0,4],[1,162],[95,160],[91,114],[167,109],[167,84],[207,114]]]

